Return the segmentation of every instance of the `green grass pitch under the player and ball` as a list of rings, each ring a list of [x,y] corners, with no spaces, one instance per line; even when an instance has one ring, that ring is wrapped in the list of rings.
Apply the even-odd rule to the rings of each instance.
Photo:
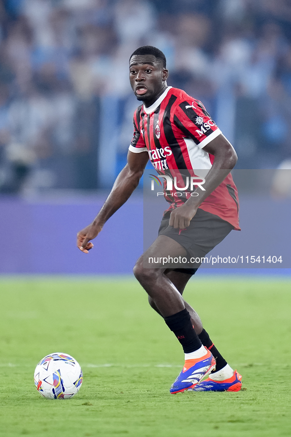
[[[2,278],[0,436],[291,436],[290,286],[193,278],[185,299],[243,390],[170,395],[182,349],[133,278]],[[34,387],[35,365],[52,352],[83,369],[70,400]]]

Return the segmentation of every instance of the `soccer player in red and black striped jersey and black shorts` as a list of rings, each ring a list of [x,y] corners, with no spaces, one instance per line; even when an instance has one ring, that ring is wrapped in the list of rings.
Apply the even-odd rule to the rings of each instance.
[[[236,153],[201,102],[167,86],[167,77],[165,56],[156,47],[140,47],[130,56],[130,85],[143,104],[134,112],[128,163],[97,217],[78,233],[77,246],[84,253],[93,248],[90,240],[128,200],[149,158],[160,175],[207,170],[203,189],[200,185],[194,190],[197,195],[187,197],[185,190],[185,195],[177,198],[165,191],[170,207],[162,218],[159,236],[137,260],[133,272],[148,293],[150,305],[174,332],[185,353],[185,364],[170,393],[189,389],[239,391],[241,375],[227,364],[197,313],[182,297],[199,264],[195,268],[165,268],[148,261],[157,255],[204,256],[232,229],[240,229],[237,190],[230,175]]]

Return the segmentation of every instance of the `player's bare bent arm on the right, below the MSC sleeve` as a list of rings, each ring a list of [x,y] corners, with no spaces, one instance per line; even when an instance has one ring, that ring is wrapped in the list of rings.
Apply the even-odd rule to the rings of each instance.
[[[236,164],[236,152],[223,134],[210,141],[203,147],[203,150],[214,155],[212,167],[203,184],[205,191],[202,191],[199,187],[196,188],[195,191],[198,196],[190,197],[184,205],[176,208],[171,213],[169,225],[176,229],[185,229],[190,225],[190,220],[193,219],[200,204],[225,180]]]

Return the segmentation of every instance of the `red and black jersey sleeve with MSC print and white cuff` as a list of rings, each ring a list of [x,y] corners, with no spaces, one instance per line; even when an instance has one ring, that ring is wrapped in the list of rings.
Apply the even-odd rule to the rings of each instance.
[[[174,123],[199,148],[205,147],[221,134],[221,130],[199,100],[185,100],[180,103],[175,111]]]

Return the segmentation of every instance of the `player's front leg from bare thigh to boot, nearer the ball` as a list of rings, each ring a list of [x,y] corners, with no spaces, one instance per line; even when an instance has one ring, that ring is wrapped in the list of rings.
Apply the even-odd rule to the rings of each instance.
[[[170,392],[183,392],[192,388],[215,366],[215,360],[196,334],[191,317],[185,308],[184,299],[164,274],[166,268],[145,268],[144,262],[155,256],[185,256],[186,250],[176,241],[166,236],[160,236],[153,245],[141,256],[134,267],[134,275],[149,296],[154,300],[159,313],[164,318],[185,353],[185,364],[180,375],[171,386]]]

